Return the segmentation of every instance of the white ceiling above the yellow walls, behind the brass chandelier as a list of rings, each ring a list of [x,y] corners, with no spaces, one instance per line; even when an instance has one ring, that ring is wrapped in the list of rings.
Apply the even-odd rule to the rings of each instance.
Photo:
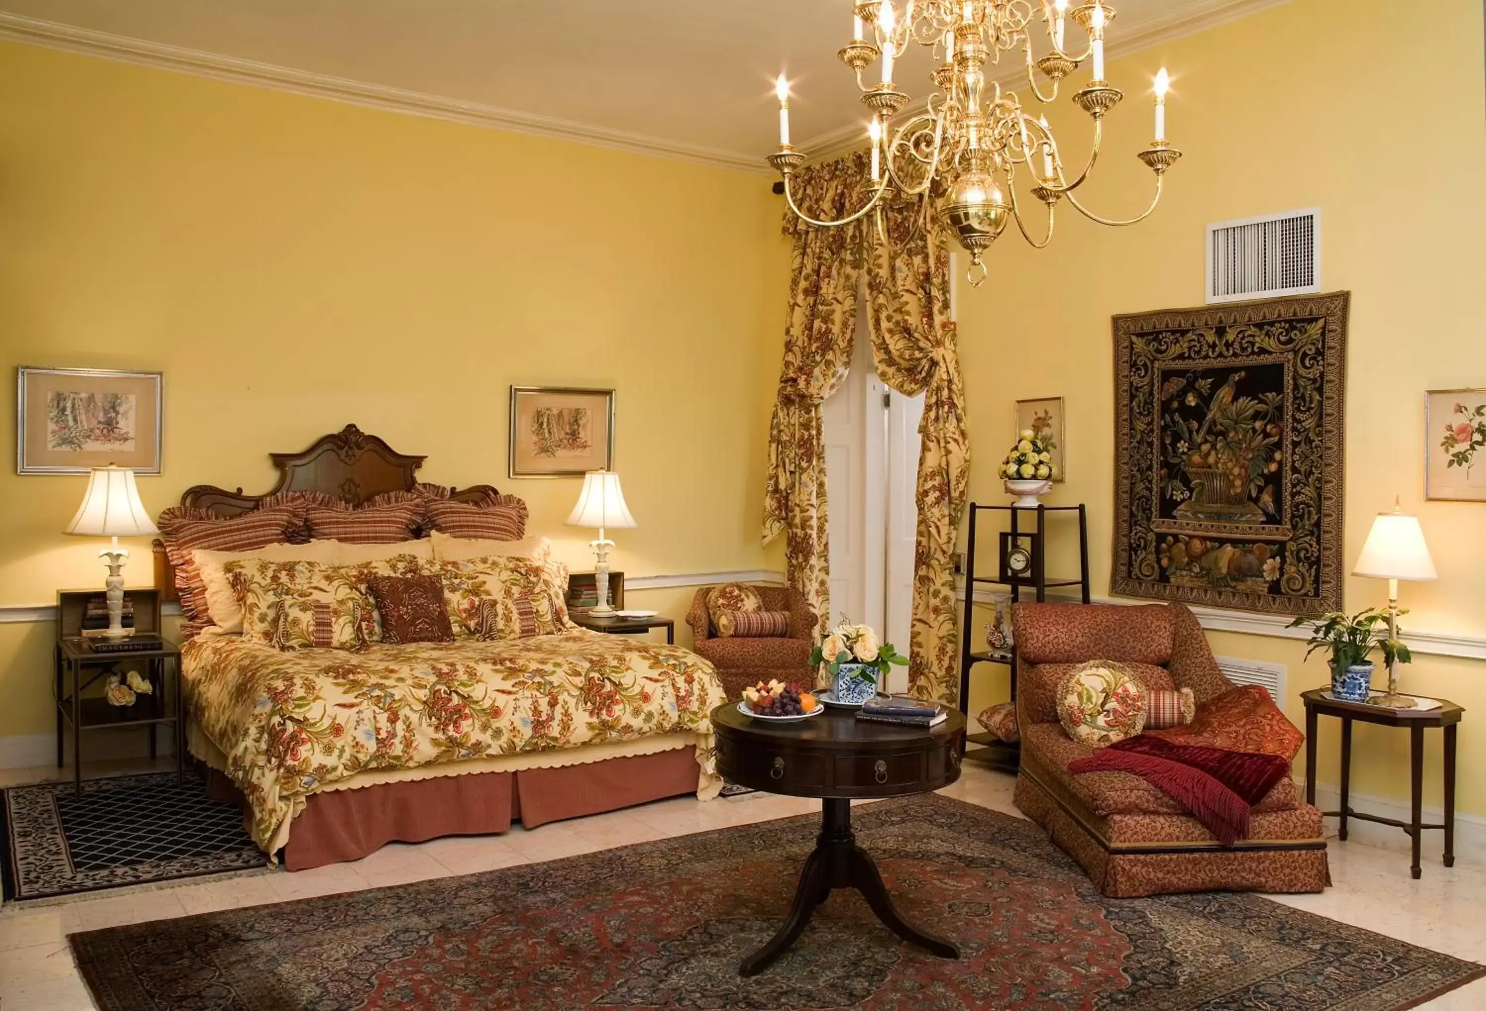
[[[1110,52],[1275,1],[1114,0]],[[10,37],[48,42],[68,27],[89,33],[85,50],[129,49],[91,34],[107,33],[156,50],[195,50],[175,58],[183,65],[199,53],[256,61],[712,148],[724,160],[758,163],[774,148],[771,83],[782,70],[795,91],[796,147],[865,125],[856,83],[835,58],[850,36],[850,0],[0,0],[0,7],[7,28],[0,34]],[[37,30],[25,19],[52,25]],[[926,52],[901,67],[903,91],[929,89]]]

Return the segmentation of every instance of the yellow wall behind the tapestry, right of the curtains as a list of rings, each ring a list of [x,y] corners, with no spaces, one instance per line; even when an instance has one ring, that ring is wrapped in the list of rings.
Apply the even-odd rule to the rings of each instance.
[[[1346,567],[1376,512],[1400,496],[1418,512],[1440,570],[1406,583],[1406,625],[1486,635],[1486,505],[1424,502],[1424,390],[1486,386],[1480,236],[1486,203],[1482,6],[1441,0],[1294,0],[1208,33],[1113,61],[1126,91],[1086,187],[1107,215],[1141,206],[1150,174],[1134,157],[1152,135],[1150,79],[1172,74],[1169,137],[1186,157],[1155,217],[1101,229],[1060,211],[1042,252],[1008,233],[988,257],[991,279],[958,300],[960,355],[976,463],[972,497],[1005,502],[996,462],[1013,432],[1013,401],[1064,396],[1068,481],[1049,505],[1086,502],[1095,595],[1109,594],[1113,527],[1113,355],[1110,315],[1204,300],[1204,226],[1320,206],[1323,285],[1352,292],[1346,395]],[[1117,31],[1117,24],[1114,31]],[[1085,150],[1082,113],[1060,102],[1055,129],[1070,163]],[[990,561],[985,555],[982,564]],[[1378,580],[1348,579],[1346,607],[1382,604]],[[976,635],[979,631],[976,629]],[[1220,655],[1288,667],[1288,713],[1327,680],[1300,644],[1216,634]],[[982,668],[984,670],[984,668]],[[976,702],[1005,695],[981,675]],[[1379,678],[1380,680],[1380,678]],[[1459,744],[1459,806],[1486,814],[1486,662],[1418,656],[1407,690],[1443,695],[1471,713]],[[1473,729],[1474,727],[1474,729]],[[1337,782],[1337,729],[1323,723],[1318,779]],[[1440,803],[1438,733],[1428,741],[1427,803]],[[1407,735],[1360,726],[1352,788],[1407,797]]]

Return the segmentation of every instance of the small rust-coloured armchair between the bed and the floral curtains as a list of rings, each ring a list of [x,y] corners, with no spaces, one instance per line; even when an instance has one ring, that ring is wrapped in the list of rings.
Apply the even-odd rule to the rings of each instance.
[[[692,650],[712,662],[730,699],[743,696],[755,681],[777,677],[782,681],[811,683],[810,650],[816,644],[816,613],[804,594],[791,586],[753,586],[764,600],[764,610],[789,612],[788,638],[721,638],[707,616],[707,592],[697,591],[687,624],[694,638]]]

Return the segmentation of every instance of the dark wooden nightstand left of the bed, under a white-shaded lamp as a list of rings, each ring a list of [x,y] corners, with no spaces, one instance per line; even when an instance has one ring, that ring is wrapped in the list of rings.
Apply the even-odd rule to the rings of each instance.
[[[73,788],[82,793],[83,733],[103,729],[147,727],[150,757],[159,753],[159,727],[169,726],[175,745],[175,775],[184,776],[184,699],[180,683],[180,649],[160,638],[160,597],[156,589],[129,589],[125,598],[134,606],[134,637],[125,638],[126,652],[111,652],[107,640],[83,635],[91,598],[98,589],[64,589],[56,594],[56,670],[52,692],[56,705],[56,768],[65,763],[67,730],[73,733]],[[149,643],[149,647],[140,649]],[[134,705],[110,705],[106,698],[83,698],[94,684],[114,671],[138,670],[153,686]],[[174,670],[174,677],[171,671]]]

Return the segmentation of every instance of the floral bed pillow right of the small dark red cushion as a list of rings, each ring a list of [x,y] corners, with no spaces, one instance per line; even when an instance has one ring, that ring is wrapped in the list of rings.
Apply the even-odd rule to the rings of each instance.
[[[526,638],[574,628],[568,621],[568,566],[489,555],[432,566],[444,583],[455,638]]]

